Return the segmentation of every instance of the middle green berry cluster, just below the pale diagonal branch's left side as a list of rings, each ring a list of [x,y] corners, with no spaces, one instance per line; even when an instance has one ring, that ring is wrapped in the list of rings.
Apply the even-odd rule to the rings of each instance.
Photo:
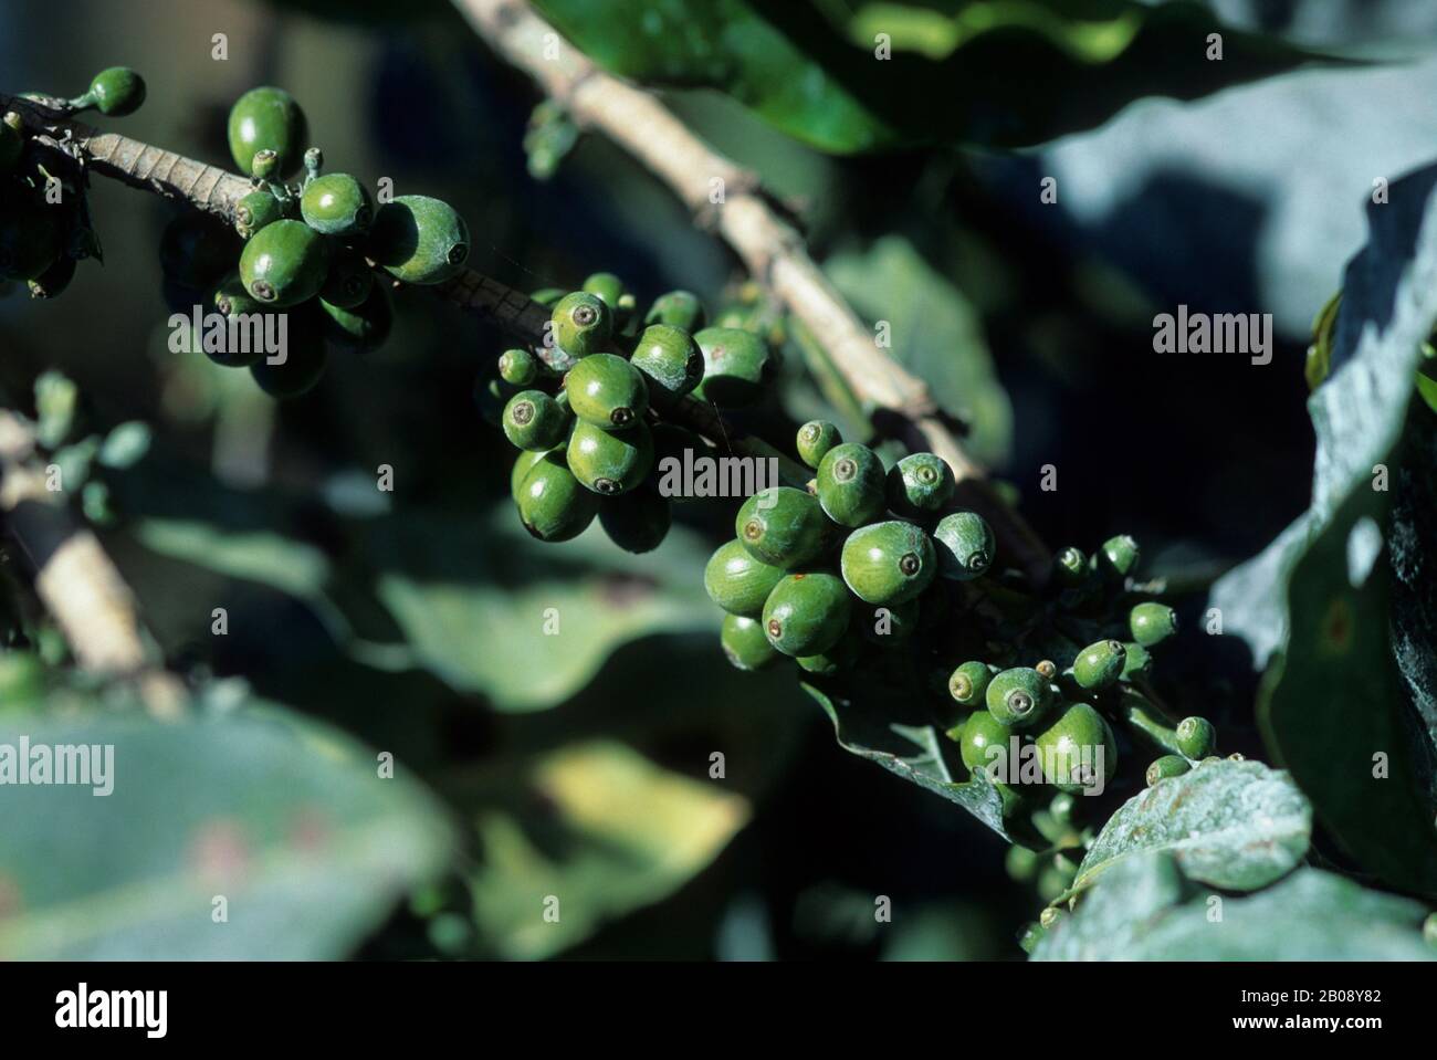
[[[648,552],[668,533],[671,503],[684,500],[664,496],[655,471],[665,457],[710,452],[655,406],[688,394],[718,408],[752,404],[773,376],[773,349],[746,326],[707,326],[690,292],[668,292],[639,315],[612,273],[533,297],[550,307],[545,346],[504,350],[476,395],[520,450],[519,519],[543,541],[569,540],[598,519],[621,547]]]

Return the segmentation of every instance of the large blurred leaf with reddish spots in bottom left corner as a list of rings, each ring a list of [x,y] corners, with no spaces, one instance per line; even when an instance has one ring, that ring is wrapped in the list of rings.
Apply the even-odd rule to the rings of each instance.
[[[448,857],[402,761],[381,778],[374,753],[262,702],[171,724],[0,715],[0,747],[22,738],[111,747],[112,790],[4,787],[7,959],[333,959]]]

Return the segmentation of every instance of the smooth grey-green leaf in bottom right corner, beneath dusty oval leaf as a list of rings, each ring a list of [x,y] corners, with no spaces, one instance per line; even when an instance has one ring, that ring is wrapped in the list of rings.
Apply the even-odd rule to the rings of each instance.
[[[1319,869],[1298,869],[1246,898],[1216,896],[1184,879],[1173,855],[1154,850],[1104,876],[1033,959],[1431,961],[1426,912]]]

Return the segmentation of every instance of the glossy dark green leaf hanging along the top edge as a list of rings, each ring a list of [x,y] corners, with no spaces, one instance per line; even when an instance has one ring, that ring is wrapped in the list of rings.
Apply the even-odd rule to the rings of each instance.
[[[891,23],[884,32],[927,55],[901,45],[888,59],[877,57],[871,9],[829,22],[831,6],[796,0],[536,6],[614,73],[718,89],[833,154],[1038,144],[1098,125],[1140,96],[1193,99],[1308,57],[1226,30],[1196,4],[1154,9],[1135,0],[1088,0],[1076,14],[1059,0],[964,3],[947,14],[894,4],[878,13]],[[1211,32],[1223,33],[1221,62],[1207,57]],[[1022,92],[1012,90],[1015,73]],[[915,106],[921,99],[943,106]]]

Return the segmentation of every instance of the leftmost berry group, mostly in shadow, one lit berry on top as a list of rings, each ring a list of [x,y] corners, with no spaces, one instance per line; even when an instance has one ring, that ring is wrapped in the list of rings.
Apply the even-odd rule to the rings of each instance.
[[[93,109],[118,118],[145,102],[145,82],[134,70],[114,66],[96,73],[75,99],[24,98],[69,113]],[[60,149],[27,136],[17,112],[6,112],[0,116],[0,289],[23,283],[30,297],[55,297],[89,257],[99,259],[101,248],[83,177]]]

